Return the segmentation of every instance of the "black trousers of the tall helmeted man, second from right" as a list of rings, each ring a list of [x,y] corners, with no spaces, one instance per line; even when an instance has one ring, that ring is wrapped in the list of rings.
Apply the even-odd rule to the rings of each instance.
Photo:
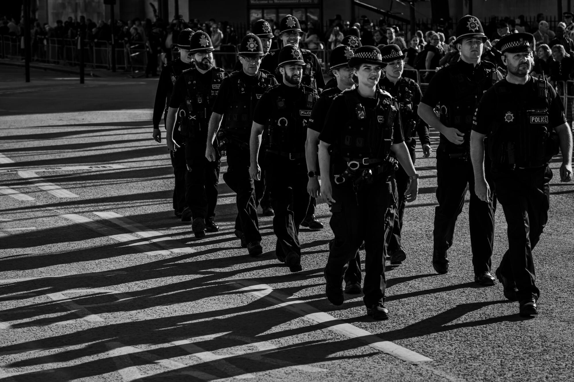
[[[467,188],[470,191],[468,220],[472,265],[475,273],[490,271],[492,244],[494,240],[494,212],[496,197],[484,202],[474,192],[474,171],[472,162],[460,158],[449,158],[444,151],[436,155],[437,183],[436,198],[439,205],[435,209],[434,251],[445,253],[452,245],[456,219],[464,206]],[[493,189],[490,176],[490,161],[485,158],[486,180]]]

